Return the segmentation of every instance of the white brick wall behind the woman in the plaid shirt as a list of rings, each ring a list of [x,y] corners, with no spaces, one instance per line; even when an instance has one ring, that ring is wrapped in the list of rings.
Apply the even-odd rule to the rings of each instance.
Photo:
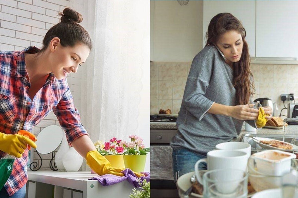
[[[0,50],[20,51],[28,46],[42,47],[46,32],[59,22],[57,12],[69,5],[68,0],[0,0]],[[67,79],[75,105],[80,111],[80,69]],[[53,124],[60,126],[51,112],[32,129],[32,133],[38,136],[42,129]],[[49,170],[50,155],[41,155],[45,159],[41,170]],[[37,155],[34,155],[34,161],[40,163]]]

